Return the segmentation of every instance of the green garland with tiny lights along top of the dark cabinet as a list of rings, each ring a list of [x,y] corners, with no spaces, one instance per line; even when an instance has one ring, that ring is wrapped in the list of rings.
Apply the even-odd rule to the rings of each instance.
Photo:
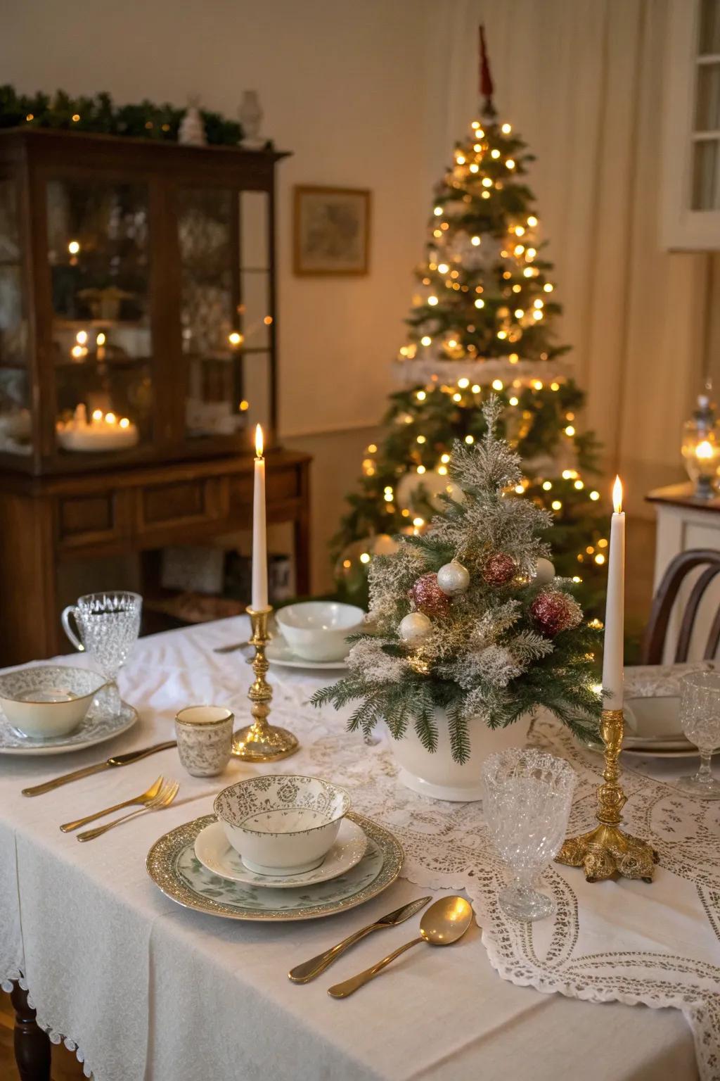
[[[10,84],[0,86],[0,128],[52,128],[55,131],[94,132],[177,143],[186,109],[165,103],[142,101],[138,105],[116,105],[110,94],[71,97],[58,90],[49,94],[18,94]],[[208,144],[237,146],[243,129],[236,120],[201,109]]]

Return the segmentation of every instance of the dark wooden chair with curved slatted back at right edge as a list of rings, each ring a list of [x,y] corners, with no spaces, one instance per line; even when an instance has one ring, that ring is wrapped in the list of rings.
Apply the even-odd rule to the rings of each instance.
[[[641,664],[660,665],[663,663],[665,637],[673,605],[687,576],[697,566],[705,566],[705,570],[697,577],[688,598],[675,648],[676,664],[688,659],[690,640],[701,601],[715,576],[720,574],[720,551],[712,548],[689,548],[688,551],[681,551],[668,563],[663,580],[653,598],[650,620],[642,642]],[[704,660],[711,660],[715,657],[719,642],[720,606],[715,613],[712,626],[707,637],[703,654]]]

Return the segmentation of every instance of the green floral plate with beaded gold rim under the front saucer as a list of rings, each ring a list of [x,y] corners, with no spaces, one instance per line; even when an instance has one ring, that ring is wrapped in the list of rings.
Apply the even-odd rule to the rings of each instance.
[[[203,815],[165,833],[148,853],[148,875],[178,905],[231,920],[315,920],[344,912],[376,897],[395,881],[403,866],[399,841],[363,815],[349,812],[368,839],[361,862],[344,875],[297,890],[245,885],[207,870],[195,855],[195,838],[216,822]]]

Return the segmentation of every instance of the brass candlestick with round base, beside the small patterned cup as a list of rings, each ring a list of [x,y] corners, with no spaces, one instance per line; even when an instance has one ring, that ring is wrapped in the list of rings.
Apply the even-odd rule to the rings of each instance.
[[[250,712],[255,721],[235,732],[232,739],[233,755],[245,762],[276,762],[281,758],[295,755],[299,747],[296,736],[287,729],[276,729],[273,724],[268,724],[272,688],[266,680],[269,665],[264,651],[270,641],[268,617],[271,612],[270,605],[266,609],[247,609],[253,626],[249,644],[255,646],[255,656],[248,660],[248,664],[253,665],[255,680],[247,692],[247,697],[253,703]]]

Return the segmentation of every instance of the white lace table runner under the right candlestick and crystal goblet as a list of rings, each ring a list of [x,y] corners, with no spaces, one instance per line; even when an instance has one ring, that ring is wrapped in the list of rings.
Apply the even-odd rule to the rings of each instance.
[[[641,676],[634,676],[635,694],[675,691],[676,670],[663,680],[655,669],[652,689]],[[572,763],[579,780],[570,835],[590,829],[601,757],[547,717],[533,723],[529,742]],[[384,742],[359,755],[354,740],[338,733],[305,753],[313,773],[347,784],[353,805],[396,833],[406,878],[467,892],[490,962],[504,979],[594,1002],[675,1006],[692,1028],[703,1081],[720,1078],[720,802],[685,797],[671,783],[625,769],[625,825],[658,852],[655,881],[587,883],[580,869],[553,865],[543,886],[556,900],[556,916],[528,924],[498,904],[506,871],[480,803],[431,801],[405,789]]]

